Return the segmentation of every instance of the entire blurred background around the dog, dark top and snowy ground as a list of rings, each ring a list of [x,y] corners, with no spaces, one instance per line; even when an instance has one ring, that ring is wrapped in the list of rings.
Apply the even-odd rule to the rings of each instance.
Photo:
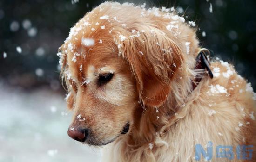
[[[118,2],[127,2],[117,0]],[[69,29],[102,0],[0,1],[0,162],[91,162],[99,149],[67,136],[72,112],[56,53]],[[195,21],[202,47],[256,88],[256,0],[128,0],[175,6]]]

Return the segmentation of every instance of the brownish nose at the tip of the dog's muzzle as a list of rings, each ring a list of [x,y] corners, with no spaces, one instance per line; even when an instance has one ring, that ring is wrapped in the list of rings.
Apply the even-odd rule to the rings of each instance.
[[[77,140],[79,142],[85,142],[87,136],[88,136],[88,130],[85,128],[75,128],[75,127],[69,127],[67,134],[69,137],[73,138],[74,140]]]

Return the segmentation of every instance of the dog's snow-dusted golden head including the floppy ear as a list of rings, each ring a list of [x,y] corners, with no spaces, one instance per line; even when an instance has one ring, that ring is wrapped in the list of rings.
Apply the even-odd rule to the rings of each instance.
[[[74,110],[70,137],[108,144],[138,127],[143,108],[166,100],[186,52],[185,43],[175,43],[180,29],[167,25],[183,22],[154,10],[106,2],[71,28],[59,53],[67,106]]]

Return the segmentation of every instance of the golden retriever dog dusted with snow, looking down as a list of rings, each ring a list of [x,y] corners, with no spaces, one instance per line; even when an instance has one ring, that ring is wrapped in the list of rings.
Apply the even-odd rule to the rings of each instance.
[[[104,162],[255,162],[256,93],[208,58],[194,26],[174,8],[105,2],[88,12],[57,54],[68,135],[110,143]]]

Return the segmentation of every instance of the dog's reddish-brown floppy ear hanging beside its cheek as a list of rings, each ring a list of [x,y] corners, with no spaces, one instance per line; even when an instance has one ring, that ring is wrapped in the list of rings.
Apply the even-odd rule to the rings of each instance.
[[[144,28],[145,29],[145,28]],[[183,57],[174,40],[157,28],[119,33],[119,53],[128,60],[144,106],[160,106]]]

